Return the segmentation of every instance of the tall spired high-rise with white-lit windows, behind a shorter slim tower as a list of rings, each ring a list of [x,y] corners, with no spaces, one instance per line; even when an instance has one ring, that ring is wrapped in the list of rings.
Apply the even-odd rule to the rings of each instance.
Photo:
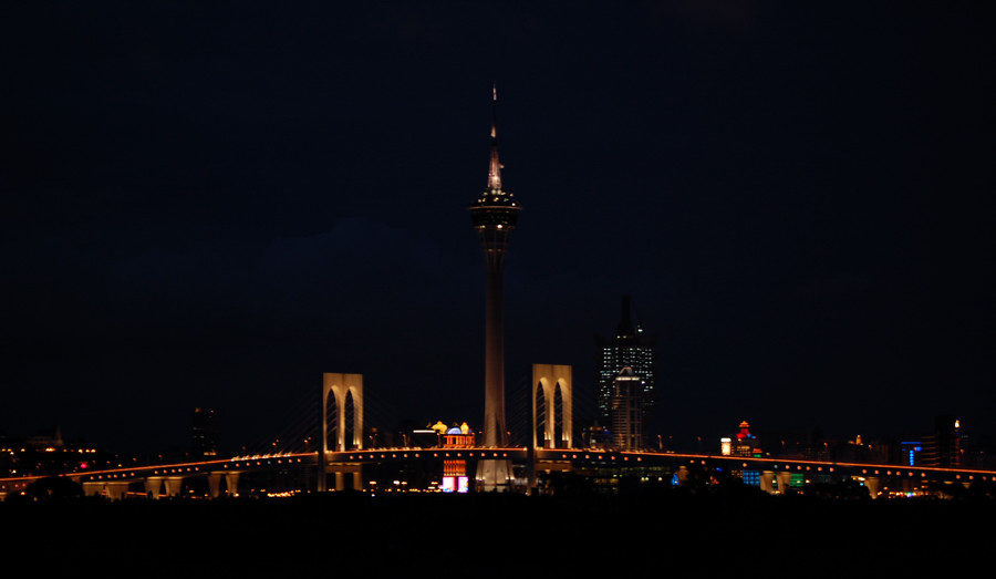
[[[616,378],[624,368],[641,381],[642,401],[640,420],[645,421],[653,410],[656,391],[654,381],[654,345],[656,339],[647,335],[643,327],[633,322],[630,297],[622,298],[622,316],[612,338],[598,337],[598,375],[595,378],[601,420],[612,425],[612,399]]]

